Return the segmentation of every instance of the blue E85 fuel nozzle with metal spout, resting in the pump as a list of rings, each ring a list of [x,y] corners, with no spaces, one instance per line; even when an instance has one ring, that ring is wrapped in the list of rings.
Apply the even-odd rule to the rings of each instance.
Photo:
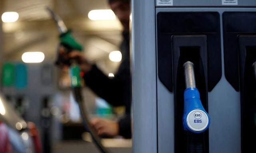
[[[183,65],[186,82],[184,92],[183,128],[193,133],[202,133],[209,128],[210,117],[204,110],[200,94],[196,88],[194,64],[187,61]]]

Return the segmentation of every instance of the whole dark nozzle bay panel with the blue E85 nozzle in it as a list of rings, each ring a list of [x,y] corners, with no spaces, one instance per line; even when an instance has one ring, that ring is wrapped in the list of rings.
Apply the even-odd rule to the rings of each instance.
[[[220,15],[160,12],[157,17],[158,77],[174,93],[175,153],[209,153],[208,91],[222,75]],[[189,88],[183,69],[187,61],[194,63],[195,85]]]

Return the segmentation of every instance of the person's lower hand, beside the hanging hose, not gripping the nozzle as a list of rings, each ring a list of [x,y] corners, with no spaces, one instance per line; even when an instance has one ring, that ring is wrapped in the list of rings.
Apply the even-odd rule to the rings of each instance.
[[[96,129],[98,135],[106,135],[110,137],[117,136],[119,134],[119,125],[111,120],[92,118],[90,124]]]

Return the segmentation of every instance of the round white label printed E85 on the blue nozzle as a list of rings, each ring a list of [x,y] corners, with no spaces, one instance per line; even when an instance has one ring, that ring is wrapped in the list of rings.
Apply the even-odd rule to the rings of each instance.
[[[189,112],[186,122],[193,131],[203,131],[207,128],[209,119],[202,110],[192,110]]]

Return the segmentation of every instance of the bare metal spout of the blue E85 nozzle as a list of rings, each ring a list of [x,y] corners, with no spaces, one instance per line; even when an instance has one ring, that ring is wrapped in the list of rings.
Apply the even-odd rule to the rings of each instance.
[[[186,88],[196,88],[196,79],[194,73],[194,64],[190,61],[187,61],[183,65]]]

